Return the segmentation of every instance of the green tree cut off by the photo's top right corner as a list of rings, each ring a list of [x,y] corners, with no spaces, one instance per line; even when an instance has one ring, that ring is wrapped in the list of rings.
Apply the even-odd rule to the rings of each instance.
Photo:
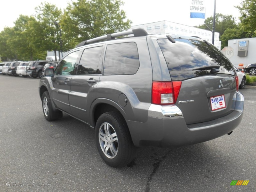
[[[236,8],[240,11],[240,27],[247,33],[246,37],[256,37],[256,0],[244,0]]]

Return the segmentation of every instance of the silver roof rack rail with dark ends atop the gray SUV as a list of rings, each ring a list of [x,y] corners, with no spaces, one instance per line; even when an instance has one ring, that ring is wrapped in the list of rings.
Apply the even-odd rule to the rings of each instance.
[[[146,36],[148,35],[147,31],[145,29],[131,29],[128,31],[121,31],[121,32],[117,32],[117,33],[112,33],[112,34],[108,34],[108,35],[104,35],[101,37],[96,37],[93,39],[89,39],[86,41],[82,41],[81,43],[79,43],[76,47],[81,47],[83,45],[87,45],[90,43],[95,43],[95,42],[100,42],[100,41],[104,41],[104,40],[112,40],[115,39],[116,37],[120,37],[120,36],[124,36],[124,35],[134,35],[134,37],[142,37],[142,36]]]

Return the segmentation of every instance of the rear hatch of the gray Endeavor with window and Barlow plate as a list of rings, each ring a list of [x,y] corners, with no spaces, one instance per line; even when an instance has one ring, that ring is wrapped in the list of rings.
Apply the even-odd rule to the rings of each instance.
[[[201,39],[158,39],[172,81],[180,81],[176,105],[187,124],[206,122],[232,112],[237,90],[231,62]]]

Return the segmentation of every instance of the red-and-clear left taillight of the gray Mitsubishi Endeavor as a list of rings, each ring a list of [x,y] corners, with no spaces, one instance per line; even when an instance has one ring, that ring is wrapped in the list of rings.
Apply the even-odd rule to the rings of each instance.
[[[153,81],[152,104],[175,104],[180,87],[181,81]]]

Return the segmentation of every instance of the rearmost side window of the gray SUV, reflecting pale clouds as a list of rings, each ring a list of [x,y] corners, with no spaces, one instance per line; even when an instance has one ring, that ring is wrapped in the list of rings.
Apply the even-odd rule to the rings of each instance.
[[[104,61],[104,75],[135,74],[140,66],[136,43],[108,45]]]

